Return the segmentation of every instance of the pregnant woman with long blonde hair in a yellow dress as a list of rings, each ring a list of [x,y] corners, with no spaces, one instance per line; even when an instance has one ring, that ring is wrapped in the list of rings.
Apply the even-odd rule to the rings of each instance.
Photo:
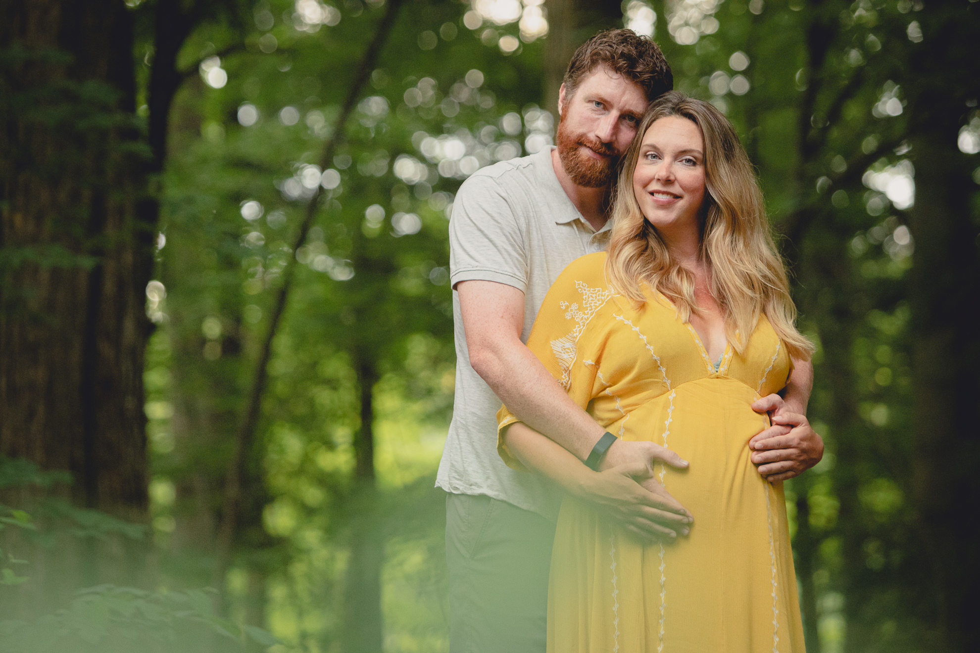
[[[782,484],[760,477],[748,448],[768,423],[750,404],[812,351],[795,314],[734,129],[667,93],[624,158],[608,255],[565,268],[527,345],[614,436],[690,461],[655,476],[696,521],[644,546],[565,498],[550,653],[804,651]],[[550,469],[565,487],[593,473],[506,406],[499,418],[508,464]]]

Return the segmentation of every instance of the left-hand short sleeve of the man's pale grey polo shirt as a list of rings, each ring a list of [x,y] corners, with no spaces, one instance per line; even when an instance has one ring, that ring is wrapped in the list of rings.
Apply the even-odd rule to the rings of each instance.
[[[515,197],[487,175],[466,179],[449,221],[449,267],[453,288],[479,279],[527,291],[527,254]]]

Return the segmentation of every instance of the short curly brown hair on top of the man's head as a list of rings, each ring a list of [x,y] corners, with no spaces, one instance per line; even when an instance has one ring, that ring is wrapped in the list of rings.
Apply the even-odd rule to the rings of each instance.
[[[568,62],[562,83],[566,98],[597,66],[608,66],[644,90],[655,100],[673,88],[673,73],[660,46],[632,29],[606,29],[578,46]]]

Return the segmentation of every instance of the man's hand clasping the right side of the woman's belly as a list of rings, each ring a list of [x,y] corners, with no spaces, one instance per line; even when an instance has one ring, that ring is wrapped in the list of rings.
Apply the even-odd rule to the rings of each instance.
[[[823,457],[823,440],[805,415],[791,412],[778,395],[763,396],[752,409],[769,413],[772,426],[749,441],[752,462],[769,483],[800,476]]]

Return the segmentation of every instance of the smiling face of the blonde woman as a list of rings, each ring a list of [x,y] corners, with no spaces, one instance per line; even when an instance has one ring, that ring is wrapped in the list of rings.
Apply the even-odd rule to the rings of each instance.
[[[633,192],[647,221],[658,231],[700,228],[705,201],[705,142],[686,117],[654,121],[643,135],[633,170]]]

